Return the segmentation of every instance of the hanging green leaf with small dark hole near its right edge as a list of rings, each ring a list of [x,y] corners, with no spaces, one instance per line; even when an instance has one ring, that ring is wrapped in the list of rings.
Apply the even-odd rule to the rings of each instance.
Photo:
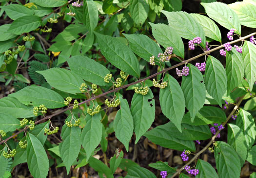
[[[184,93],[186,107],[190,111],[193,122],[196,113],[203,107],[205,101],[205,86],[203,75],[194,65],[189,66],[189,75],[182,77],[181,88]]]

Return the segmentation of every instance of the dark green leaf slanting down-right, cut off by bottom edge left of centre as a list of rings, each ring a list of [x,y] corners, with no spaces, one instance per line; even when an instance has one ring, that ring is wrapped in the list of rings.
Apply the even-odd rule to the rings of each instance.
[[[89,159],[89,164],[95,171],[99,173],[104,173],[107,176],[107,178],[114,178],[110,168],[106,166],[106,164],[104,164],[103,162],[97,160],[96,158],[91,157]]]

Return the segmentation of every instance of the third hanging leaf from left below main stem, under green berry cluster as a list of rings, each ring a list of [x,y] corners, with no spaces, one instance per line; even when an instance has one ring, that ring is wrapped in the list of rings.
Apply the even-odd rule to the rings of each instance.
[[[82,146],[86,152],[86,161],[89,160],[94,149],[98,146],[101,135],[102,135],[102,125],[101,125],[101,114],[97,113],[93,116],[87,114],[85,117],[86,125],[82,130],[81,141]]]

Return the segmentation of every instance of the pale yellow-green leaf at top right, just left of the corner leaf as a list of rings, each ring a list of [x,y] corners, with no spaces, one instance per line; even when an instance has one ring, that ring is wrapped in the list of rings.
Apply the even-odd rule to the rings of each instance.
[[[241,24],[236,13],[222,2],[201,3],[206,14],[217,21],[226,29],[236,29],[237,34],[241,34]]]

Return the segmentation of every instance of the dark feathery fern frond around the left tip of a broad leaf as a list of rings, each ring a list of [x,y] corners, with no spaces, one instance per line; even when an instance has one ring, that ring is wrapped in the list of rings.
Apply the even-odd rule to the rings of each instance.
[[[34,81],[35,84],[41,85],[42,83],[46,82],[44,77],[37,73],[38,70],[46,70],[47,65],[40,63],[39,61],[31,61],[29,62],[28,74],[29,77]]]

